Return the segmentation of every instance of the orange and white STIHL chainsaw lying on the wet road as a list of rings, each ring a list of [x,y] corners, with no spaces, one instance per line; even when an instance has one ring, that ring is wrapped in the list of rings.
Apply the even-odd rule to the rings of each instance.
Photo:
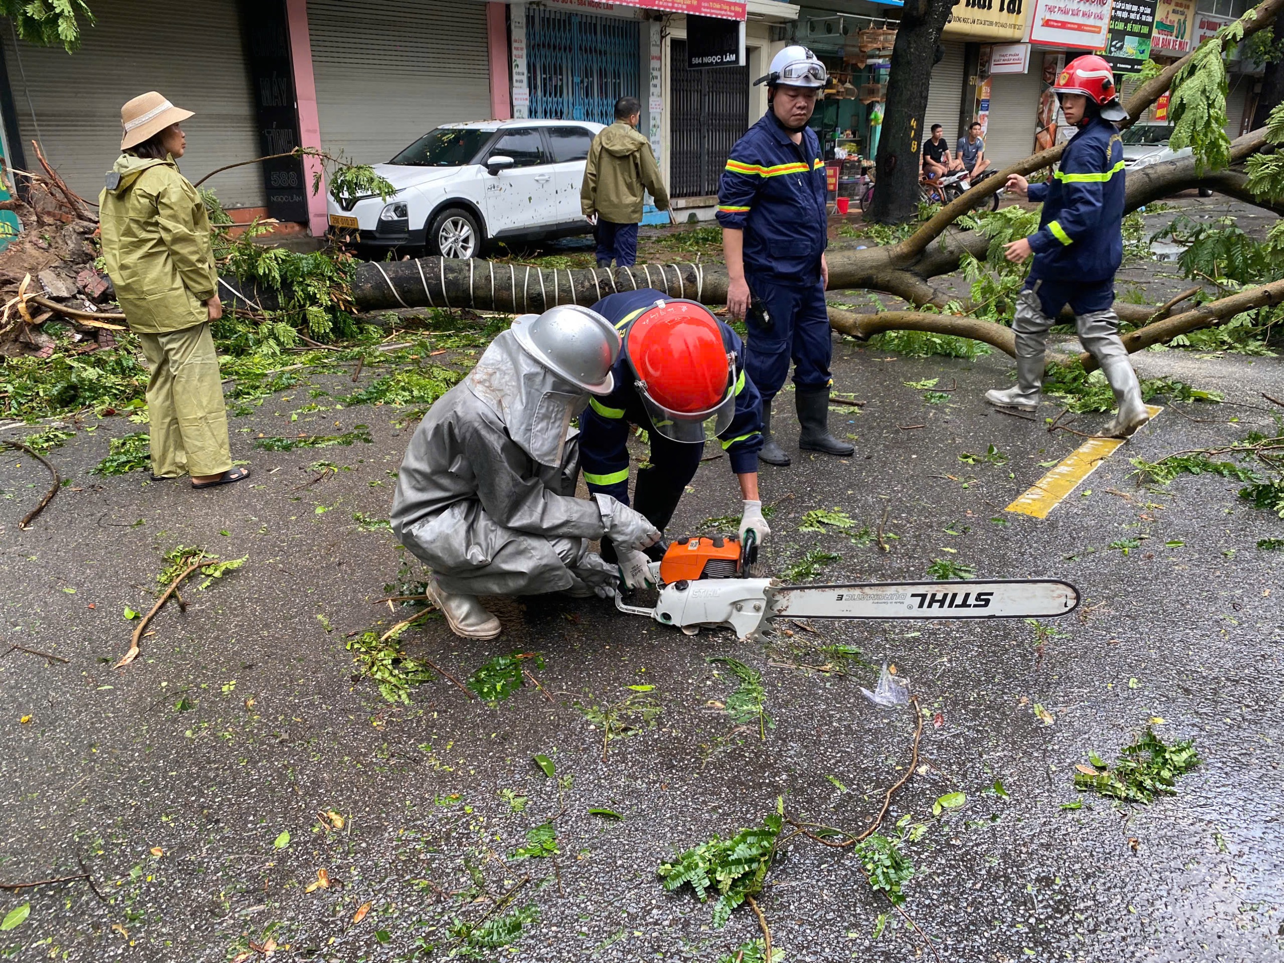
[[[862,582],[783,586],[752,578],[754,535],[679,538],[652,562],[660,597],[654,609],[615,607],[674,625],[688,636],[731,628],[742,641],[764,638],[774,619],[1050,619],[1072,612],[1079,589],[1055,579]]]

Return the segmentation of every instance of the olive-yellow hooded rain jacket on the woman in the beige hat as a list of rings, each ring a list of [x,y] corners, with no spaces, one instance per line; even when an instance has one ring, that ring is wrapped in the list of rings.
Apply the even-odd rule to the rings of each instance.
[[[135,331],[204,324],[218,290],[209,214],[172,157],[121,154],[98,195],[103,259]]]

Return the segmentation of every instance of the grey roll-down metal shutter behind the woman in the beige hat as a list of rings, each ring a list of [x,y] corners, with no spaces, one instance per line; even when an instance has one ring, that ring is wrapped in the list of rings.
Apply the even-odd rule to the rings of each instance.
[[[259,155],[236,0],[96,0],[92,8],[98,23],[83,26],[83,46],[71,56],[22,41],[14,49],[9,23],[0,24],[28,167],[39,163],[31,149],[39,136],[71,189],[98,200],[121,153],[121,105],[149,90],[196,114],[182,125],[187,153],[178,162],[190,180]],[[266,203],[257,164],[203,186],[226,207]]]

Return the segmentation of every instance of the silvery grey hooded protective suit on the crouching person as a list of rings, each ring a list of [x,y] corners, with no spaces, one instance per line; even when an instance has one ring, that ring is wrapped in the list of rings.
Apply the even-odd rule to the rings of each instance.
[[[587,402],[502,331],[425,415],[402,461],[392,526],[446,592],[583,584],[577,569],[605,530],[597,503],[575,498],[570,421]]]

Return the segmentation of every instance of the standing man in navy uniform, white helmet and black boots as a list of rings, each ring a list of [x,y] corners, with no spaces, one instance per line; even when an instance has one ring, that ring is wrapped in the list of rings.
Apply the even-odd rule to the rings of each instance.
[[[770,108],[731,149],[718,191],[718,223],[727,257],[727,307],[745,318],[745,369],[763,395],[763,449],[768,465],[790,457],[770,433],[772,399],[794,360],[799,448],[851,455],[828,431],[832,343],[824,289],[829,268],[828,191],[820,141],[806,125],[828,72],[804,46],[772,59]]]

